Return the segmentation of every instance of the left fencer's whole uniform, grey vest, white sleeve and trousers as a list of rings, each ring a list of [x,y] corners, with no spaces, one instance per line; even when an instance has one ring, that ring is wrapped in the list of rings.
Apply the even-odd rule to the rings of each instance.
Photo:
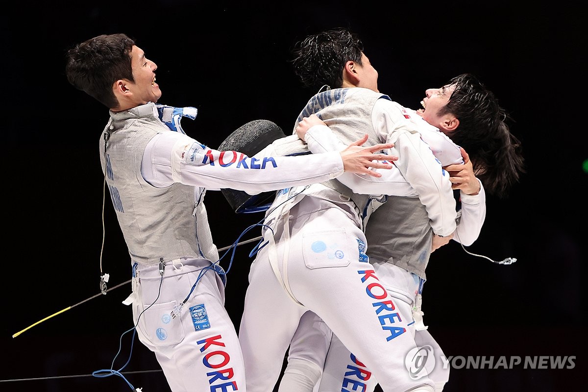
[[[111,111],[100,138],[102,169],[131,258],[128,303],[139,340],[155,353],[173,392],[245,391],[239,341],[224,307],[225,275],[203,203],[206,188],[307,185],[342,174],[342,159],[338,152],[248,157],[209,149],[183,133],[175,108],[166,119],[170,108],[147,103]]]

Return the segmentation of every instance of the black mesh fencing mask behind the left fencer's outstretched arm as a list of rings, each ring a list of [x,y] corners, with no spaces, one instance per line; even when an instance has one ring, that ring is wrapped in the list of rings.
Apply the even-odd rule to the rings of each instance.
[[[250,121],[231,133],[218,148],[219,151],[238,151],[253,156],[272,145],[268,155],[286,156],[309,154],[305,142],[296,135],[286,136],[282,128],[269,120]],[[272,204],[276,191],[249,195],[242,190],[221,189],[227,202],[236,213],[265,211]]]

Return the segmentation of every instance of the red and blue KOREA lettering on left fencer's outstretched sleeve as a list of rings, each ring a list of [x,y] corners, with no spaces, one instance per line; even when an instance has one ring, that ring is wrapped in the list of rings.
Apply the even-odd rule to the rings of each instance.
[[[242,169],[266,169],[269,166],[278,167],[278,163],[271,156],[252,158],[237,151],[217,151],[209,149],[199,143],[193,145],[182,153],[186,163],[194,166],[211,165],[227,167],[235,165]]]

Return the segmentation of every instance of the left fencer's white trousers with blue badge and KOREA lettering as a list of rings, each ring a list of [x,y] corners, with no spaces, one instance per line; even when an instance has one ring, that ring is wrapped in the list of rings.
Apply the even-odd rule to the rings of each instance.
[[[168,264],[163,279],[157,266],[139,270],[137,334],[155,353],[171,386],[212,388],[235,383],[244,388],[242,354],[223,305],[223,284],[208,266],[211,262],[203,259],[177,269]]]

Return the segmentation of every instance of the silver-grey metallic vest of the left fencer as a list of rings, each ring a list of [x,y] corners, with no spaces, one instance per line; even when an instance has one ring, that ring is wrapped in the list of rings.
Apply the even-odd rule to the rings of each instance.
[[[141,175],[145,146],[157,133],[173,132],[154,103],[111,112],[102,132],[100,159],[132,262],[155,265],[179,257],[216,262],[203,204],[205,189],[174,183],[156,188]]]

